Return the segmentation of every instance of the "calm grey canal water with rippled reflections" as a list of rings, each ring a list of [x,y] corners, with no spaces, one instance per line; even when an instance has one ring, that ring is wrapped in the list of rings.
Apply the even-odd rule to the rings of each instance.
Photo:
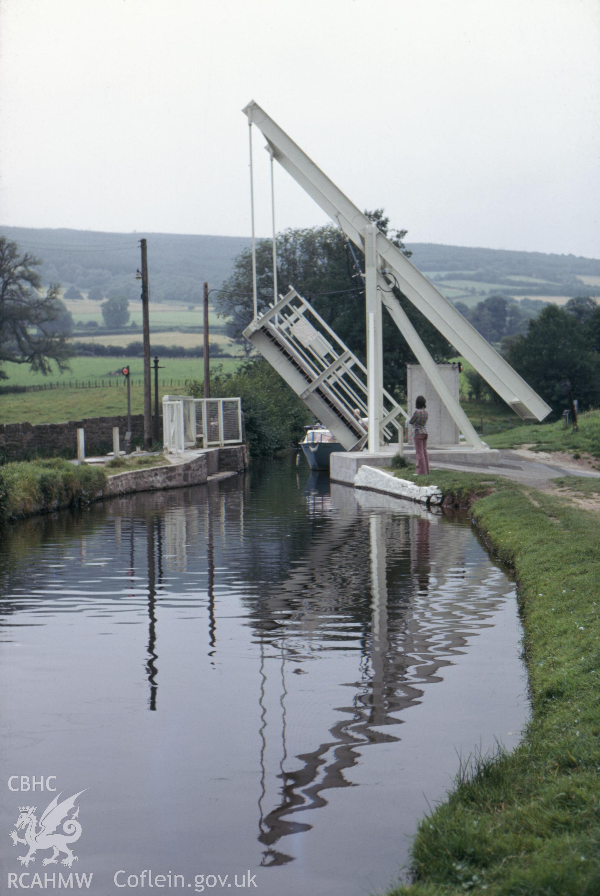
[[[2,538],[3,892],[381,891],[461,759],[519,742],[515,590],[468,521],[273,461]],[[59,793],[77,860],[45,830],[21,866]]]

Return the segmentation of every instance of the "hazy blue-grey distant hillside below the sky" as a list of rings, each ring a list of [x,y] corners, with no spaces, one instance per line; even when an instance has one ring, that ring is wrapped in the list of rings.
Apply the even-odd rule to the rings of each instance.
[[[43,259],[45,283],[139,297],[139,237],[148,239],[155,301],[198,303],[202,283],[221,286],[249,237],[102,233],[91,230],[0,227],[21,249]],[[575,255],[412,243],[412,262],[452,301],[472,305],[493,293],[515,297],[600,296],[600,259]]]

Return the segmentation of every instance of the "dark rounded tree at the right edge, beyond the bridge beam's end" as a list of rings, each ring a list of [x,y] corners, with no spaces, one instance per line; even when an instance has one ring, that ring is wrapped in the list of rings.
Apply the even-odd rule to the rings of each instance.
[[[586,327],[563,308],[545,307],[529,322],[527,335],[512,342],[506,359],[556,414],[566,407],[563,380],[570,380],[583,408],[600,402],[600,356]]]

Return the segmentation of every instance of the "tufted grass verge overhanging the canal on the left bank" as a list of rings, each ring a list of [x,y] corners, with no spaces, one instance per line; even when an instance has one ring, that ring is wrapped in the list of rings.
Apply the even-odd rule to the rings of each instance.
[[[0,520],[89,504],[105,483],[104,470],[59,458],[6,463],[0,467]]]

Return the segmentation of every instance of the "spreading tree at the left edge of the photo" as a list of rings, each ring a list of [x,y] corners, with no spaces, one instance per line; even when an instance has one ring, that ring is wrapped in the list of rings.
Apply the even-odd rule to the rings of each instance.
[[[63,371],[72,358],[64,332],[66,308],[58,298],[60,286],[51,284],[45,296],[40,294],[42,281],[35,269],[41,263],[0,237],[0,379],[7,378],[2,370],[6,361],[29,364],[31,370],[46,375],[52,361]]]

